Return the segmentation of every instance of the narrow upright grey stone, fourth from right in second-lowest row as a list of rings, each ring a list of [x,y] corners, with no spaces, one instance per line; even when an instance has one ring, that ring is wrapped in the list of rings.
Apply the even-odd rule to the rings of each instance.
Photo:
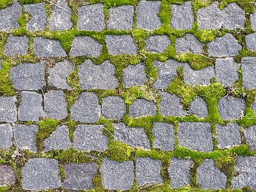
[[[161,150],[174,150],[174,131],[172,124],[164,122],[153,123],[153,131],[155,140],[154,148],[161,148]]]

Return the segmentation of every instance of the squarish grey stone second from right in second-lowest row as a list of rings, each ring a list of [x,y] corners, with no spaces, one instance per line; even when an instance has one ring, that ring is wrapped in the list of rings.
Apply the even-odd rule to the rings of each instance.
[[[219,148],[231,148],[241,145],[240,126],[237,123],[228,123],[227,126],[216,124],[216,139]]]

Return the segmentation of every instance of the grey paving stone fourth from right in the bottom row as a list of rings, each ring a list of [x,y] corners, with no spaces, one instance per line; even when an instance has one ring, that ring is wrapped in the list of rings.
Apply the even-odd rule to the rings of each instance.
[[[138,186],[150,186],[153,184],[163,184],[161,176],[161,160],[150,157],[138,157],[136,159],[136,180]]]

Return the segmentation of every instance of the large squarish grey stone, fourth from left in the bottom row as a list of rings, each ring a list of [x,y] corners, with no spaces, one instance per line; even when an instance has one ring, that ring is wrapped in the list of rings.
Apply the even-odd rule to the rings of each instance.
[[[105,189],[127,190],[133,186],[133,161],[118,163],[104,158],[101,167],[102,186]]]

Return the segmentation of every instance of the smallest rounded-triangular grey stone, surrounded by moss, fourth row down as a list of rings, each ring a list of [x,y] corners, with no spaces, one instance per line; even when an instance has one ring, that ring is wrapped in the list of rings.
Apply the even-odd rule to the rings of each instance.
[[[204,118],[208,115],[207,103],[202,97],[197,96],[190,102],[188,113]]]

